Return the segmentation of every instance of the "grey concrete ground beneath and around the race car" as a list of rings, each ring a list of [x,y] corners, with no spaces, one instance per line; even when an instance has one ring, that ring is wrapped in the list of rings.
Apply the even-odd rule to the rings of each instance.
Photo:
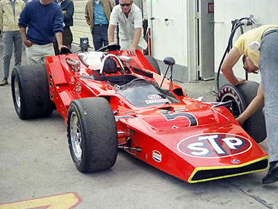
[[[24,53],[22,61],[26,64]],[[190,97],[215,101],[213,81],[181,86]],[[278,183],[261,184],[267,171],[189,184],[120,151],[108,171],[80,173],[70,156],[63,117],[54,111],[48,118],[20,120],[10,79],[0,86],[0,115],[0,208],[278,208]],[[267,151],[266,141],[260,145]],[[79,203],[69,206],[70,199],[58,198],[61,204],[54,206],[47,199],[68,193],[76,194]]]

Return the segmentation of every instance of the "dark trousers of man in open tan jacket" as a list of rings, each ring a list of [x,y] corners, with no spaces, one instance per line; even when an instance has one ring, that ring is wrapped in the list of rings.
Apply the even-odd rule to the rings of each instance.
[[[95,24],[92,29],[92,41],[94,42],[95,51],[108,45],[108,24]]]

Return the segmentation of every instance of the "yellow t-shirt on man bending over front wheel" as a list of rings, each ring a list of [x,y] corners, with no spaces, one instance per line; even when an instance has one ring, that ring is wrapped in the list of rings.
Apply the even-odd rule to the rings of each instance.
[[[254,65],[259,67],[258,66],[259,51],[255,52],[253,49],[248,47],[248,45],[250,45],[250,43],[253,41],[261,43],[261,36],[263,36],[263,33],[265,32],[265,30],[272,28],[272,27],[278,28],[278,25],[275,25],[275,24],[263,25],[263,26],[259,26],[256,29],[252,29],[250,31],[243,33],[238,38],[238,40],[236,40],[234,47],[236,47],[238,49],[240,55],[245,54],[245,56],[248,56],[252,60]]]

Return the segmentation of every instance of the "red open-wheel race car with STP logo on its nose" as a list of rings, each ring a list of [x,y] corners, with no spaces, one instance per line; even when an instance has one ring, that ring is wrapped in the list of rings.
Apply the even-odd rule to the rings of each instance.
[[[222,89],[219,102],[201,102],[172,82],[171,57],[164,60],[171,72],[167,79],[152,56],[119,49],[47,56],[45,65],[15,67],[12,93],[19,118],[57,109],[81,172],[110,169],[119,148],[188,183],[268,167],[267,153],[236,122],[243,109],[233,86]]]

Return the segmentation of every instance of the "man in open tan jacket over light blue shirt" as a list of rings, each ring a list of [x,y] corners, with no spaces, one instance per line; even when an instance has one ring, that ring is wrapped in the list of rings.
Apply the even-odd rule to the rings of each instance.
[[[90,26],[96,51],[108,45],[107,29],[114,6],[112,0],[89,0],[85,6],[85,19]]]

